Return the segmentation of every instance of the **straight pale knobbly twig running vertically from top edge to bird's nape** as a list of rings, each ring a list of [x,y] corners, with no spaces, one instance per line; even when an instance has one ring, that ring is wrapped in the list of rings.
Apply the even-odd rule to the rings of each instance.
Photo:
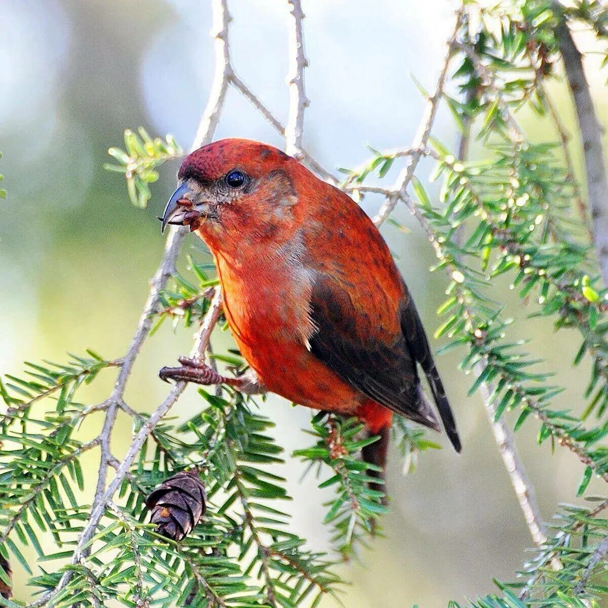
[[[304,13],[300,0],[288,0],[289,5],[289,116],[285,129],[285,148],[291,156],[302,153],[304,110],[308,99],[304,90],[304,68],[308,61],[304,55],[302,20]]]

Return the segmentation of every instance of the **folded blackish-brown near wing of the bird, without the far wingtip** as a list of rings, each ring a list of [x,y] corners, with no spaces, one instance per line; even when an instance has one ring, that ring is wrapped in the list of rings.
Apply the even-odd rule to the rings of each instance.
[[[439,430],[424,399],[416,359],[406,337],[379,339],[368,314],[354,306],[339,282],[319,274],[311,295],[311,319],[318,328],[312,353],[364,395],[410,420]]]

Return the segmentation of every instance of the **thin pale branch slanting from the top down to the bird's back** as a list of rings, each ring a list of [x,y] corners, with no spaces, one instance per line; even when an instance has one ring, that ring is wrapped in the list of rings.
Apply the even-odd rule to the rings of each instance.
[[[449,67],[450,60],[452,58],[452,54],[454,52],[454,45],[456,43],[456,36],[458,33],[458,29],[460,28],[460,22],[463,16],[464,7],[461,6],[460,9],[456,12],[456,24],[454,27],[454,31],[447,41],[447,53],[446,57],[443,61],[443,67],[441,68],[441,72],[439,74],[439,78],[437,80],[437,86],[435,86],[434,94],[427,98],[426,107],[424,108],[423,118],[420,122],[420,126],[418,126],[418,132],[416,133],[413,142],[412,142],[412,156],[410,157],[409,165],[404,168],[399,174],[397,181],[395,183],[395,187],[393,190],[398,192],[405,192],[407,186],[410,181],[412,181],[412,177],[416,167],[418,167],[418,162],[424,154],[424,150],[426,150],[426,145],[429,140],[430,130],[432,129],[433,123],[435,122],[435,116],[437,115],[437,108],[441,101],[441,97],[443,97],[443,90],[446,85],[447,78],[447,68]],[[397,202],[399,201],[399,195],[397,193],[389,196],[386,199],[382,207],[380,207],[378,211],[378,215],[374,218],[374,223],[376,226],[380,226],[384,221],[389,217],[392,213],[393,209]]]

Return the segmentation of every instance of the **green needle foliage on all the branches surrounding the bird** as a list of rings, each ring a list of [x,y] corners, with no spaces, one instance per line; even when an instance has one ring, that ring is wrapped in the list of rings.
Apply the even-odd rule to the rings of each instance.
[[[225,8],[223,2],[219,5]],[[340,187],[356,199],[384,195],[389,211],[398,201],[410,207],[437,255],[433,270],[446,274],[447,300],[438,311],[442,319],[435,334],[447,340],[441,350],[461,353],[460,367],[473,378],[470,394],[489,391],[495,421],[516,410],[514,430],[534,425],[539,444],[567,449],[578,458],[581,482],[573,495],[586,497],[594,476],[608,482],[608,288],[598,268],[591,218],[575,179],[568,139],[546,90],[549,81],[561,78],[555,32],[564,21],[584,24],[608,43],[608,9],[599,0],[576,1],[567,9],[550,0],[489,7],[464,2],[444,70],[461,98],[447,94],[441,79],[434,94],[422,91],[431,119],[421,145],[370,148],[371,158],[346,170]],[[218,37],[227,40],[222,35]],[[229,60],[226,65],[230,67]],[[248,91],[233,72],[224,76],[241,92]],[[253,97],[249,92],[256,105]],[[463,137],[477,136],[483,148],[476,153],[480,160],[460,158],[430,136],[438,103],[447,105]],[[553,125],[555,140],[528,140],[518,122],[523,110]],[[171,136],[153,139],[140,129],[125,131],[125,150],[111,148],[109,154],[118,164],[108,168],[125,174],[131,201],[143,207],[161,165],[183,151]],[[437,201],[414,174],[423,156],[434,159],[432,180],[441,181]],[[404,179],[385,187],[392,168],[402,163],[409,163]],[[370,185],[372,178],[377,179]],[[202,326],[205,351],[213,328],[209,320],[215,322],[219,315],[213,304],[217,280],[212,267],[189,262],[188,275],[174,271],[174,260],[161,267],[157,276],[165,280],[171,275],[171,280],[155,283],[159,290],[143,317],[141,335],[167,320],[176,328]],[[572,409],[554,406],[563,387],[544,362],[530,358],[526,341],[514,336],[516,328],[505,318],[503,304],[489,297],[488,286],[502,275],[531,316],[549,317],[556,330],[576,330],[580,347],[574,366],[590,361],[592,371],[584,402]],[[221,317],[219,321],[225,329]],[[382,493],[368,487],[374,480],[371,466],[359,458],[361,448],[375,438],[362,438],[357,420],[319,414],[309,429],[313,443],[289,455],[314,469],[320,487],[333,492],[325,523],[334,550],[317,553],[289,528],[284,457],[272,438],[272,422],[261,415],[255,399],[227,386],[216,393],[199,390],[201,411],[177,424],[164,414],[183,389],[178,385],[152,415],[137,413],[123,399],[136,351],[116,360],[89,350],[83,357],[71,355],[65,364],[28,363],[23,377],[6,376],[0,382],[6,406],[0,416],[0,590],[10,587],[9,564],[15,570],[16,562],[38,593],[29,604],[5,597],[0,605],[97,607],[114,600],[130,607],[292,608],[317,606],[324,595],[340,603],[344,581],[337,564],[359,559],[361,547],[381,534],[387,511]],[[236,351],[209,353],[209,358],[235,375],[246,371]],[[112,395],[100,404],[80,402],[83,384],[112,368],[119,370]],[[122,463],[109,451],[119,411],[133,423],[133,445]],[[78,426],[98,412],[105,416],[102,431],[91,441],[79,441]],[[394,431],[407,470],[421,452],[437,447],[402,420]],[[100,453],[100,473],[93,503],[84,505],[89,480],[81,457],[89,451]],[[115,482],[106,488],[112,468]],[[206,512],[176,542],[148,523],[145,500],[168,477],[184,471],[198,475],[206,489],[201,506]],[[599,606],[598,598],[608,593],[602,576],[608,499],[586,498],[587,507],[559,508],[547,541],[514,581],[496,581],[496,595],[466,606]],[[52,537],[55,553],[44,554],[42,536]],[[38,567],[24,558],[24,546],[37,551]]]

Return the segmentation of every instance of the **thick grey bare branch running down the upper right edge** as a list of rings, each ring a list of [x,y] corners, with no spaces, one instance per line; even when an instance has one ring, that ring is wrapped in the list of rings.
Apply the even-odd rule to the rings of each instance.
[[[606,159],[602,146],[602,126],[595,113],[589,84],[582,66],[582,55],[576,47],[572,33],[563,16],[563,7],[554,2],[558,15],[555,37],[561,50],[566,78],[576,109],[581,131],[582,149],[587,173],[587,197],[593,220],[593,243],[595,244],[604,285],[608,285],[608,178]]]

